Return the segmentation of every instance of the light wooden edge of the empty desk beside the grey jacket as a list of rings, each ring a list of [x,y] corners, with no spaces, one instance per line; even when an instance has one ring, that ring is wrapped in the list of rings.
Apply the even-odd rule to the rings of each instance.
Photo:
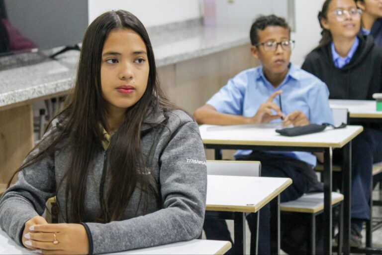
[[[261,200],[255,206],[229,206],[229,205],[206,205],[206,211],[220,211],[220,212],[242,212],[242,213],[256,213],[266,204],[268,204],[272,199],[283,192],[290,184],[292,184],[292,179],[286,178],[287,180],[278,187],[274,192],[269,194],[263,200]]]

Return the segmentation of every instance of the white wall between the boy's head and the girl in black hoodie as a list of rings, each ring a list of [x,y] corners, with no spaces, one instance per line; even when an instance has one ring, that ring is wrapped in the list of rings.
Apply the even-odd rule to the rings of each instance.
[[[295,0],[294,15],[296,31],[291,34],[296,41],[292,53],[291,62],[302,65],[305,56],[318,45],[321,39],[321,28],[317,15],[324,0]]]

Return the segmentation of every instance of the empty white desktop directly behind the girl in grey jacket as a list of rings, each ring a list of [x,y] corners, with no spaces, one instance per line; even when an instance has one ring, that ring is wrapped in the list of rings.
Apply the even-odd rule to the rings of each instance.
[[[207,211],[257,212],[283,192],[289,178],[207,176]]]

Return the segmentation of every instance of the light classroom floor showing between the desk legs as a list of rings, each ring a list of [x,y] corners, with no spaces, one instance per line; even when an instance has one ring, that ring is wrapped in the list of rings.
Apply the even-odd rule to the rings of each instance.
[[[382,193],[380,193],[378,186],[376,187],[376,189],[373,192],[373,197],[375,200],[376,199],[382,200]],[[375,206],[373,208],[373,216],[374,217],[380,217],[382,220],[382,207]],[[231,235],[232,235],[232,233],[233,233],[233,221],[227,221],[227,224],[228,224],[228,228],[231,231]],[[247,227],[246,227],[246,243],[247,243],[246,254],[250,254],[249,253],[250,235],[251,234],[249,232],[249,228],[248,228],[248,224],[247,224]],[[365,244],[365,236],[366,236],[365,229],[363,230],[362,235],[363,235],[363,243]],[[203,239],[205,239],[204,234],[203,234]],[[232,237],[232,239],[233,239],[233,237]],[[373,247],[382,249],[382,228],[373,232]],[[284,253],[282,251],[281,254],[285,255],[286,253]]]

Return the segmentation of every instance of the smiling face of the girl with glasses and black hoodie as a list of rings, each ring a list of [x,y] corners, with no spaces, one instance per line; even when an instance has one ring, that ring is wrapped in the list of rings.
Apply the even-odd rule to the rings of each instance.
[[[361,13],[354,0],[332,0],[322,26],[333,38],[354,38],[361,27]]]

